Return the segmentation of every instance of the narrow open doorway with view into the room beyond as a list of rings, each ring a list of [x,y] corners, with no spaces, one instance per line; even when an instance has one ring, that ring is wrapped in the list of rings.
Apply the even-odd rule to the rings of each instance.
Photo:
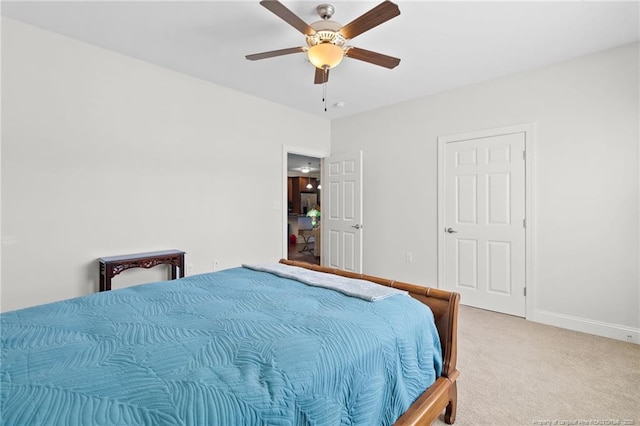
[[[322,264],[322,158],[287,152],[287,258]]]

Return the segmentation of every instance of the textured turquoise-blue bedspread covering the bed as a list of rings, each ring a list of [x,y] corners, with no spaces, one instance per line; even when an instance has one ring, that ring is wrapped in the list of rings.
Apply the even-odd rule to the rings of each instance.
[[[431,312],[245,268],[1,315],[6,425],[392,424],[441,369]]]

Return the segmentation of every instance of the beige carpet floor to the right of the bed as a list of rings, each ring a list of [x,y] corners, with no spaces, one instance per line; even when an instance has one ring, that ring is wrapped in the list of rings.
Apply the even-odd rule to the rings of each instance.
[[[640,426],[640,345],[461,306],[458,369],[459,426]]]

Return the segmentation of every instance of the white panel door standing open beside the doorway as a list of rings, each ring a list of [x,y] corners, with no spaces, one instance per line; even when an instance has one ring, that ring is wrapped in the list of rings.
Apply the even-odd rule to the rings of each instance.
[[[362,272],[362,151],[324,159],[322,263]]]

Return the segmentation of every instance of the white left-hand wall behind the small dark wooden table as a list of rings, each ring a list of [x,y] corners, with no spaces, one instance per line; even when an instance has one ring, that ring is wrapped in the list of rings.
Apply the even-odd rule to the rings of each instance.
[[[329,150],[328,120],[6,18],[2,92],[3,311],[95,292],[101,256],[277,260],[282,146]]]

